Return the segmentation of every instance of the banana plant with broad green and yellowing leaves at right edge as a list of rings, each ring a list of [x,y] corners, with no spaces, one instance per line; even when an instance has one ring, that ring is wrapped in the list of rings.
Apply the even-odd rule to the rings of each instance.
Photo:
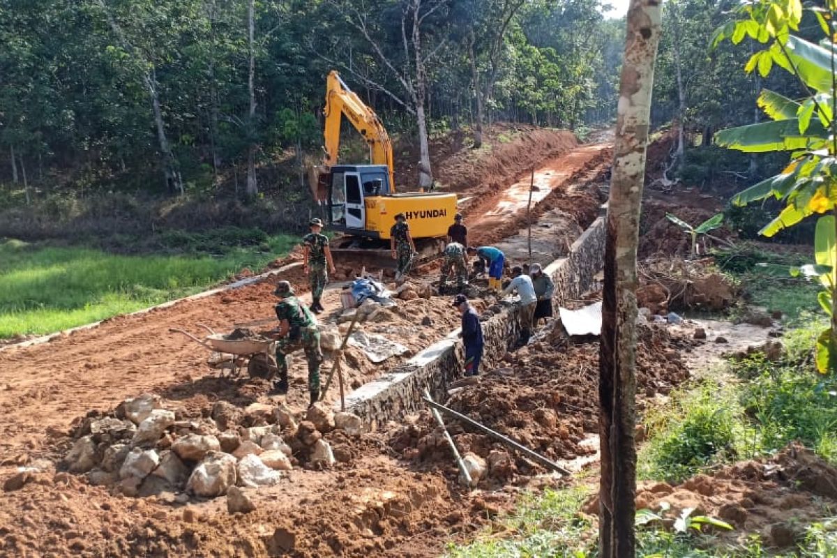
[[[821,1],[821,0],[820,0]],[[752,38],[763,49],[757,50],[744,70],[758,71],[764,77],[778,67],[798,79],[807,95],[791,100],[770,90],[763,90],[757,103],[771,120],[719,131],[715,140],[720,146],[745,153],[788,151],[791,161],[775,177],[758,182],[732,199],[743,206],[774,197],[784,203],[778,216],[760,231],[772,237],[783,228],[793,227],[811,215],[819,218],[814,238],[817,266],[834,268],[834,233],[837,220],[837,0],[805,8],[814,14],[823,40],[813,43],[797,34],[804,8],[801,0],[755,0],[738,8],[738,18],[719,28],[712,44],[730,39],[739,44]],[[819,241],[818,241],[819,238]],[[837,296],[834,296],[834,272],[814,273],[825,291],[821,305],[827,303],[831,318],[829,330],[819,336],[817,368],[821,372],[837,370]],[[821,272],[822,269],[819,269]]]

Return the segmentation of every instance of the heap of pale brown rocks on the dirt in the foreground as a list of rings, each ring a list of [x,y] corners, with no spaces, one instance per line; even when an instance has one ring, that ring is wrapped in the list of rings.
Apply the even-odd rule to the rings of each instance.
[[[295,466],[331,467],[336,460],[323,433],[362,432],[360,418],[323,403],[295,413],[284,404],[216,402],[206,418],[183,414],[151,394],[121,402],[110,415],[91,412],[75,428],[62,465],[129,496],[214,498],[234,486],[275,484]]]

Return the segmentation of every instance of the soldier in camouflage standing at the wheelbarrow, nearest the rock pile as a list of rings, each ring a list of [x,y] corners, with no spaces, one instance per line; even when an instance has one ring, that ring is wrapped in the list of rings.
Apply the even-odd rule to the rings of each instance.
[[[320,398],[320,331],[316,327],[316,319],[308,309],[300,303],[294,294],[294,289],[287,281],[276,284],[274,293],[279,299],[275,306],[276,319],[279,320],[279,330],[275,331],[276,364],[279,367],[279,381],[274,390],[278,393],[288,392],[288,355],[302,349],[306,352],[308,361],[308,391],[311,393],[311,405]]]

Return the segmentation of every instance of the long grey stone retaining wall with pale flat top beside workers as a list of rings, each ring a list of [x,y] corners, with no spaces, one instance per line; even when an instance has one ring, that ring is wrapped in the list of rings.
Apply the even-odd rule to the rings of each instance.
[[[555,282],[552,305],[578,299],[593,284],[593,277],[604,264],[605,219],[599,217],[573,243],[566,258],[549,264],[545,272]],[[482,324],[485,337],[483,371],[506,354],[519,336],[516,306],[508,306]],[[462,375],[464,351],[454,330],[443,340],[429,346],[402,366],[352,392],[347,410],[362,417],[372,429],[405,412],[424,408],[422,395],[429,388],[434,398],[444,400],[449,381]]]

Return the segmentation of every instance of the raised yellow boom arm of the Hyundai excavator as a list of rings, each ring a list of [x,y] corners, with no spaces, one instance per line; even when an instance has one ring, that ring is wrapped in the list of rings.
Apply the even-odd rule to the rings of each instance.
[[[372,165],[386,165],[389,169],[389,188],[394,193],[393,143],[375,111],[343,83],[336,70],[331,70],[326,79],[326,108],[323,112],[326,115],[326,166],[337,164],[340,122],[342,115],[346,115],[369,144]]]

